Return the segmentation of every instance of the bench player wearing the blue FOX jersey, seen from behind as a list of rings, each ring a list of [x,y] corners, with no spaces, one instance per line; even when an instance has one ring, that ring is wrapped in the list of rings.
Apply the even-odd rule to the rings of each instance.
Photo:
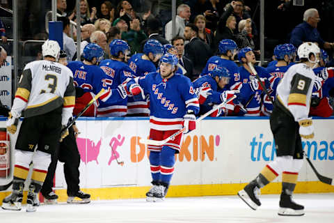
[[[76,115],[81,112],[97,93],[102,89],[106,89],[106,93],[100,97],[97,104],[92,105],[84,113],[84,116],[96,116],[96,108],[99,102],[117,102],[126,97],[126,94],[122,94],[120,90],[111,90],[108,76],[97,66],[103,56],[103,49],[99,45],[89,43],[84,48],[82,56],[84,61],[71,61],[67,65],[73,72],[74,86],[77,89],[73,114]]]

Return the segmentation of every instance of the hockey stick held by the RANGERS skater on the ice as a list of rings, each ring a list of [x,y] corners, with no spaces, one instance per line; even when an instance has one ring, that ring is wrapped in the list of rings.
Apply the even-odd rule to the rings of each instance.
[[[196,123],[198,123],[199,121],[201,121],[203,118],[206,118],[207,116],[209,116],[210,114],[214,113],[216,111],[216,109],[219,109],[221,107],[223,107],[223,105],[228,104],[228,102],[231,102],[232,100],[234,100],[234,98],[237,98],[236,95],[233,95],[232,98],[228,99],[225,102],[222,102],[221,104],[219,104],[217,107],[215,107],[214,109],[211,109],[209,112],[203,114],[202,116],[200,116],[199,118],[196,119]],[[164,140],[158,141],[158,140],[152,140],[152,139],[140,139],[139,142],[141,144],[145,144],[145,145],[153,145],[153,146],[162,146],[164,144],[166,144],[167,141],[175,138],[177,135],[181,134],[182,132],[184,132],[186,130],[186,128],[182,128],[180,130],[178,130],[177,132],[175,132],[174,134],[170,135],[170,137],[167,137]]]

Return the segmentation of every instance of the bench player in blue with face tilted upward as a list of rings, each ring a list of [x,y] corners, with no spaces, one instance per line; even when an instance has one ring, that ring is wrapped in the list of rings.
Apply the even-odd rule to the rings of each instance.
[[[257,77],[255,77],[256,75],[253,74],[252,70],[250,70],[250,67],[248,66],[248,63],[252,63],[253,66],[256,63],[253,49],[250,47],[241,49],[238,53],[238,59],[242,63],[242,66],[239,67],[239,73],[240,81],[243,83],[242,89],[240,90],[240,100],[241,104],[248,104],[245,107],[247,113],[244,114],[244,116],[260,116],[262,100],[261,93],[263,89],[261,84],[258,82]],[[268,89],[269,82],[267,82],[267,79],[270,77],[269,73],[260,66],[254,66],[254,68],[257,75],[260,77],[262,84],[266,85]]]

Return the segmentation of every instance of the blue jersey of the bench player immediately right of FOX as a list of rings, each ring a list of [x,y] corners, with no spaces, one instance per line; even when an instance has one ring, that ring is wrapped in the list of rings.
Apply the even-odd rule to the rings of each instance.
[[[127,83],[127,87],[134,84],[134,72],[126,63],[112,59],[101,61],[100,68],[109,76],[111,89]],[[97,108],[97,116],[125,116],[127,114],[127,98],[119,102],[104,102]]]

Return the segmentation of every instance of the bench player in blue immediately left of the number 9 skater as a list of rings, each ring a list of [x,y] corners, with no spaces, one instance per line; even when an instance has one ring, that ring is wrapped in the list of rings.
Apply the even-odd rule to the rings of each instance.
[[[277,85],[289,68],[290,49],[287,45],[277,45],[275,49],[273,49],[273,55],[275,56],[277,63],[275,66],[268,67],[267,72],[269,72],[270,75],[270,88],[268,91],[270,93],[271,100],[275,101]],[[261,107],[262,115],[270,116],[271,112],[273,112],[273,103],[271,100],[267,94],[263,95],[263,103]]]

